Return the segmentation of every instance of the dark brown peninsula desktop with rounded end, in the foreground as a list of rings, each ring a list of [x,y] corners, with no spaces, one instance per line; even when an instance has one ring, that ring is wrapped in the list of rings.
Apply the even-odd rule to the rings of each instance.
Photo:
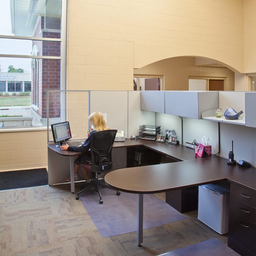
[[[227,165],[221,157],[197,158],[183,162],[166,163],[113,170],[105,181],[120,191],[136,194],[159,193],[202,184],[238,179],[255,173],[255,168]],[[255,182],[255,181],[254,181]]]

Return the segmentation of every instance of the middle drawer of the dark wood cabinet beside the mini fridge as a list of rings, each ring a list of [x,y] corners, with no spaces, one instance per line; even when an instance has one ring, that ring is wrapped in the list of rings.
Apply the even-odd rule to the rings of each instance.
[[[229,209],[251,222],[256,222],[255,208],[233,197],[229,198]]]

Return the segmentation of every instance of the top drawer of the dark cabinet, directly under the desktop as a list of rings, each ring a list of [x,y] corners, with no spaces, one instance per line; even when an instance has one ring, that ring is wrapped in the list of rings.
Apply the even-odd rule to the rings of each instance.
[[[236,184],[230,184],[230,196],[255,207],[255,192],[246,188],[240,187]]]

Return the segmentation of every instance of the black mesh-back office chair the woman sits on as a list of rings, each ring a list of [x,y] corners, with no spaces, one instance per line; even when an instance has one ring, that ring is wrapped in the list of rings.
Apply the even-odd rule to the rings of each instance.
[[[79,199],[79,195],[92,187],[99,193],[100,204],[103,203],[100,193],[100,187],[110,188],[104,181],[104,178],[98,178],[98,174],[108,173],[112,168],[112,147],[115,140],[117,130],[104,130],[94,132],[91,140],[91,157],[92,165],[81,163],[80,166],[85,169],[89,169],[95,173],[95,178],[91,179],[88,186],[80,190],[77,193],[76,200]],[[115,190],[115,189],[112,189]],[[120,192],[116,190],[116,194],[119,196]]]

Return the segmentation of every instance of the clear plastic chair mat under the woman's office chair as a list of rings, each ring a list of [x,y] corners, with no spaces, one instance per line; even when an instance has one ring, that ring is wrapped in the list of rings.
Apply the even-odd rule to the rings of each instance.
[[[103,204],[95,190],[81,193],[80,200],[102,237],[109,237],[136,231],[137,194],[101,189]],[[143,228],[186,219],[181,213],[154,194],[143,196]]]

